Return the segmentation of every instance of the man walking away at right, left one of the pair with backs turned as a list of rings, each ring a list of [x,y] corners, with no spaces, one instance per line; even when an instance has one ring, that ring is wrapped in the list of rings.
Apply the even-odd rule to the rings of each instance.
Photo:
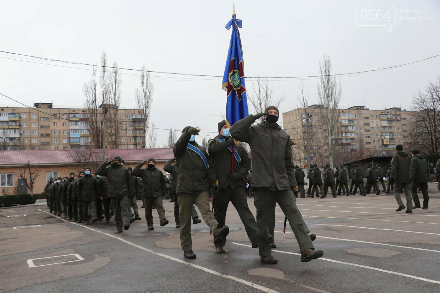
[[[391,159],[391,175],[394,179],[394,197],[396,198],[399,208],[396,212],[405,209],[402,198],[400,197],[400,189],[405,191],[407,199],[406,212],[412,214],[412,197],[411,197],[411,175],[410,175],[411,159],[407,152],[403,151],[403,146],[398,144],[396,146],[396,154]]]

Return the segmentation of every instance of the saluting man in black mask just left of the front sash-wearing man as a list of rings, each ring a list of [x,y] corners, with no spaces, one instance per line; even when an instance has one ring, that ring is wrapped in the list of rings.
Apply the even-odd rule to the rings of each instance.
[[[142,168],[147,164],[147,168]],[[142,168],[142,169],[141,169]],[[142,177],[143,197],[145,198],[145,219],[147,220],[148,230],[153,227],[153,204],[159,214],[161,227],[167,225],[169,220],[165,218],[163,198],[165,197],[165,176],[162,171],[156,168],[156,160],[150,158],[136,165],[132,174]]]

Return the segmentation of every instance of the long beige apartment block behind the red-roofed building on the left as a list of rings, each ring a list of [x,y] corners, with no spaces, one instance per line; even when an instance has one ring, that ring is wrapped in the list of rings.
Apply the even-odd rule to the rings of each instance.
[[[143,117],[143,111],[135,109],[117,109],[116,115],[107,116],[107,146],[121,149],[143,146],[145,133],[138,127]],[[53,108],[52,103],[35,103],[33,108],[0,107],[0,150],[85,148],[91,143],[88,127],[91,120],[101,123],[103,114],[89,117],[87,109]]]

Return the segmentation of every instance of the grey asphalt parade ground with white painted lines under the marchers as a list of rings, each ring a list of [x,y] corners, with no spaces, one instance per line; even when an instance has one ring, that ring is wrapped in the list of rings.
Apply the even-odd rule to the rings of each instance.
[[[62,220],[46,204],[0,209],[1,292],[440,292],[440,194],[429,209],[396,212],[394,196],[298,198],[322,258],[301,263],[297,242],[276,209],[278,264],[262,264],[229,205],[225,254],[202,222],[192,225],[197,259],[180,249],[173,203],[154,231],[142,220],[117,233],[110,223]],[[419,195],[421,198],[421,195]],[[422,198],[421,198],[422,199]],[[256,214],[253,198],[249,208]],[[140,206],[142,203],[138,201]]]

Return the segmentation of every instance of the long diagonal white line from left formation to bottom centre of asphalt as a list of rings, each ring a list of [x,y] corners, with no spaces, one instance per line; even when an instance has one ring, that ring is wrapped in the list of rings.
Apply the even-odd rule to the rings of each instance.
[[[43,211],[43,210],[41,210],[41,209],[38,209],[38,210],[41,211],[41,212],[45,212],[45,213],[51,215],[50,213],[48,213],[48,212],[46,212],[46,211]],[[74,225],[77,225],[77,226],[80,226],[80,227],[83,227],[83,228],[86,228],[86,229],[89,229],[89,230],[92,230],[92,231],[95,231],[95,232],[98,232],[98,233],[101,233],[101,234],[104,234],[104,235],[107,235],[107,236],[109,236],[109,237],[111,237],[111,238],[118,239],[118,240],[120,240],[120,241],[122,241],[122,242],[125,242],[125,243],[127,243],[127,244],[129,244],[129,245],[132,245],[132,246],[134,246],[134,247],[136,247],[136,248],[142,249],[142,250],[144,250],[144,251],[147,251],[147,252],[149,252],[149,253],[153,253],[153,254],[158,255],[158,256],[165,257],[165,258],[167,258],[167,259],[169,259],[169,260],[174,260],[174,261],[176,261],[176,262],[178,262],[178,263],[180,263],[180,264],[185,264],[185,265],[187,265],[187,266],[194,267],[194,268],[196,268],[196,269],[199,269],[199,270],[205,271],[205,272],[207,272],[207,273],[209,273],[209,274],[213,274],[213,275],[216,275],[216,276],[219,276],[219,277],[223,277],[223,278],[228,278],[228,279],[230,279],[230,280],[233,280],[233,281],[236,281],[236,282],[239,282],[239,283],[245,284],[245,285],[247,285],[247,286],[249,286],[249,287],[253,287],[253,288],[258,289],[258,290],[263,291],[263,292],[267,292],[267,293],[279,293],[278,291],[275,291],[275,290],[269,289],[269,288],[264,287],[264,286],[260,286],[260,285],[258,285],[258,284],[255,284],[255,283],[252,283],[252,282],[249,282],[249,281],[243,280],[243,279],[241,279],[241,278],[237,278],[237,277],[234,277],[234,276],[231,276],[231,275],[225,275],[225,274],[220,273],[220,272],[218,272],[218,271],[211,270],[211,269],[209,269],[209,268],[207,268],[207,267],[202,267],[202,266],[199,266],[199,265],[197,265],[197,264],[193,264],[193,263],[190,263],[190,262],[187,262],[187,261],[184,261],[184,260],[180,260],[180,259],[178,259],[178,258],[175,258],[175,257],[173,257],[173,256],[169,256],[169,255],[166,255],[166,254],[164,254],[164,253],[158,253],[158,252],[155,252],[155,251],[153,251],[153,250],[151,250],[151,249],[148,249],[148,248],[145,248],[145,247],[143,247],[143,246],[137,245],[137,244],[135,244],[135,243],[133,243],[133,242],[129,242],[129,241],[127,241],[127,240],[125,240],[125,239],[122,239],[122,238],[119,238],[119,237],[117,237],[117,236],[115,236],[115,235],[108,234],[108,233],[103,232],[103,231],[95,230],[95,229],[93,229],[93,228],[90,228],[90,227],[86,227],[86,226],[80,225],[80,224],[78,224],[78,223],[74,223],[74,222],[66,221],[66,220],[60,218],[59,216],[55,216],[55,215],[51,215],[51,216],[54,216],[55,218],[58,218],[58,219],[60,219],[60,220],[62,220],[62,221],[64,221],[64,222],[66,222],[66,223],[71,223],[71,224],[74,224]]]

